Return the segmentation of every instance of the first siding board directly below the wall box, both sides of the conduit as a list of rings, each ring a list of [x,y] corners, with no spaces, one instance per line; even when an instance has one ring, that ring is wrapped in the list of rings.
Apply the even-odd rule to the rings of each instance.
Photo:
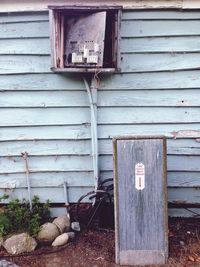
[[[184,83],[183,83],[184,80]],[[127,73],[101,79],[101,90],[200,88],[198,71]],[[0,90],[85,90],[79,74],[0,75]]]

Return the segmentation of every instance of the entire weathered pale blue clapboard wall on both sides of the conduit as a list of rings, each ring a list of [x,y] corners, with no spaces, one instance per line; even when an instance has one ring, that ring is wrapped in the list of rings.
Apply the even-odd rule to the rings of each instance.
[[[169,200],[199,202],[199,26],[198,11],[123,12],[122,73],[98,91],[102,179],[113,177],[113,136],[164,134]],[[66,180],[76,201],[94,184],[89,103],[80,75],[50,65],[48,13],[1,14],[0,187],[26,194],[26,151],[33,193],[63,202]]]

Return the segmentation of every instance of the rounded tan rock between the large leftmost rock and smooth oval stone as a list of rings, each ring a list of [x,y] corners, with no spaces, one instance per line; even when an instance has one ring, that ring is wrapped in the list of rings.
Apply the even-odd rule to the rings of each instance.
[[[51,243],[59,235],[59,230],[54,223],[45,223],[40,228],[37,240],[41,243]]]

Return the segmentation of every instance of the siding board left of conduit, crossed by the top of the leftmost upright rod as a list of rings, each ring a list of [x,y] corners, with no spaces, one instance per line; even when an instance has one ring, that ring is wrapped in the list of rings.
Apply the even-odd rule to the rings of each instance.
[[[32,172],[92,171],[90,156],[38,156],[29,157],[29,169]],[[0,158],[0,173],[25,172],[22,157]]]

